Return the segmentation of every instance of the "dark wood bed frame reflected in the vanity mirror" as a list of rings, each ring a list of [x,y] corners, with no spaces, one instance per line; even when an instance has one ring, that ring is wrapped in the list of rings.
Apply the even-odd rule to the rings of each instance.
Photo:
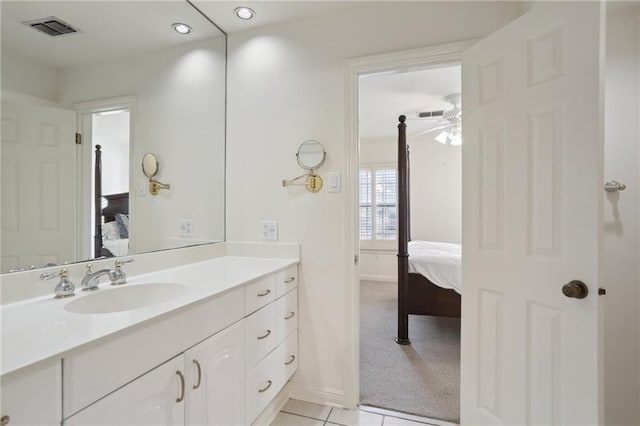
[[[109,249],[102,246],[102,224],[116,220],[116,214],[129,214],[129,193],[102,195],[102,147],[96,145],[95,175],[94,175],[94,253],[93,256],[114,257]],[[107,205],[102,208],[102,199],[107,200]]]

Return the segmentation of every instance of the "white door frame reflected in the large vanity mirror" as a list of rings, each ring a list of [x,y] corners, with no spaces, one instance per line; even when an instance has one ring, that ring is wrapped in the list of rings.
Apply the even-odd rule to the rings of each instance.
[[[87,253],[88,258],[93,258],[93,252],[91,250],[91,242],[93,241],[93,229],[91,228],[91,205],[93,199],[91,194],[93,188],[91,187],[91,164],[93,158],[93,143],[92,143],[92,117],[97,112],[110,111],[115,109],[127,109],[129,110],[129,214],[135,211],[135,197],[132,197],[132,179],[133,176],[133,162],[131,161],[131,155],[133,154],[134,144],[134,123],[135,123],[135,96],[123,96],[118,98],[101,99],[96,101],[82,102],[74,104],[71,108],[76,112],[76,128],[77,132],[82,135],[82,144],[77,146],[76,151],[76,170],[79,184],[76,186],[76,199],[78,200],[76,206],[76,214],[79,218],[78,226],[79,232],[77,234],[76,247],[79,248],[81,253]],[[89,165],[87,168],[86,165]],[[85,238],[86,236],[89,238]],[[129,249],[131,252],[132,247],[135,246],[135,241],[131,239],[129,241]]]

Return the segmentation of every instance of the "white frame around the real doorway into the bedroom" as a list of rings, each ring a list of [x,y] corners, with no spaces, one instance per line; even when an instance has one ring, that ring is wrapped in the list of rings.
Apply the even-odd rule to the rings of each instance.
[[[346,63],[346,223],[347,258],[345,264],[345,377],[344,406],[356,408],[360,403],[360,255],[358,170],[360,144],[358,138],[358,79],[364,75],[424,70],[462,63],[462,52],[477,39],[401,50],[362,58]],[[389,344],[395,344],[389,340]]]

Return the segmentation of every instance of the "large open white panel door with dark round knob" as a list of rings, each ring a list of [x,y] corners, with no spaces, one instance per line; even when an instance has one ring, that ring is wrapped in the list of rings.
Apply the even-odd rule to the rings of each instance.
[[[603,13],[534,4],[463,55],[462,424],[599,422]]]

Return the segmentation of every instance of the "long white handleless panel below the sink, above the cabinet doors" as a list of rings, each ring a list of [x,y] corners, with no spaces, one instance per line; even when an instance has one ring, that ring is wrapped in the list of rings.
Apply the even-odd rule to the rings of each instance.
[[[195,303],[99,339],[64,357],[63,417],[68,417],[244,316],[244,291]],[[101,320],[109,321],[105,316]],[[81,321],[81,319],[79,319]]]

